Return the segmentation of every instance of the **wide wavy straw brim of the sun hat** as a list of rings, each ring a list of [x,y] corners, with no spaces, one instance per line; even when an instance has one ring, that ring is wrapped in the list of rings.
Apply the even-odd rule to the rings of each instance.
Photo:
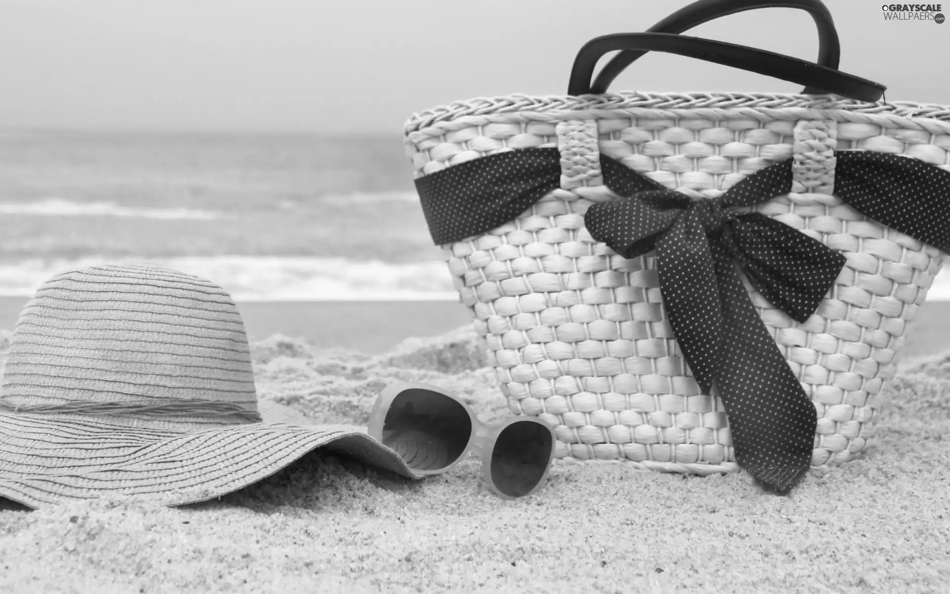
[[[64,416],[0,413],[0,496],[29,508],[117,495],[182,506],[243,489],[317,449],[422,478],[352,426],[252,423],[174,433]]]

